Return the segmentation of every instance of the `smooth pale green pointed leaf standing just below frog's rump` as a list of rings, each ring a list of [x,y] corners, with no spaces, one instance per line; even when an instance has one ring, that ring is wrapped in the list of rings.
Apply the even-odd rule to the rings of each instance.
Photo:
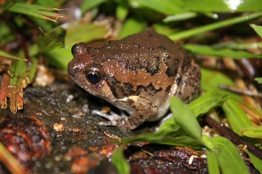
[[[197,118],[192,111],[180,101],[178,97],[170,98],[170,109],[176,123],[191,137],[200,140],[202,139],[202,132]]]

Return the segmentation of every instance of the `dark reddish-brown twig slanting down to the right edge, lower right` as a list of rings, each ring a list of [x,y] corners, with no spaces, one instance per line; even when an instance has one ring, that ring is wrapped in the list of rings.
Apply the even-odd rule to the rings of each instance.
[[[259,147],[247,142],[242,137],[240,137],[235,132],[231,131],[228,127],[226,127],[224,124],[220,124],[217,121],[215,121],[212,117],[206,116],[205,121],[209,126],[214,128],[216,131],[218,131],[222,136],[228,138],[231,142],[233,142],[235,145],[246,145],[247,150],[251,152],[253,155],[258,157],[262,160],[262,149]]]

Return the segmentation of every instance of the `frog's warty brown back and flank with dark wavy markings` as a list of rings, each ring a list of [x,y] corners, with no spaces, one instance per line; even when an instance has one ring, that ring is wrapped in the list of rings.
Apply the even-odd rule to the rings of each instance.
[[[175,83],[178,86],[183,69],[191,61],[179,45],[153,31],[93,45],[89,52],[104,68],[104,79],[116,98],[139,95],[158,102],[175,94],[172,87]]]

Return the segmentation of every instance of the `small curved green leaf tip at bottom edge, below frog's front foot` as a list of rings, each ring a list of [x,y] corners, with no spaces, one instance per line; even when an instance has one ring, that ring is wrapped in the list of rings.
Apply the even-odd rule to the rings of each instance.
[[[117,147],[113,152],[112,163],[117,168],[119,174],[130,174],[130,165],[123,155],[124,146]]]

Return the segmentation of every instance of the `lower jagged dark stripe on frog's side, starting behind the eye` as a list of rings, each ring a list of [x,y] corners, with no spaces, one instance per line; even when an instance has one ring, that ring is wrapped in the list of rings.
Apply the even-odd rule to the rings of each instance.
[[[134,86],[131,83],[120,83],[115,77],[105,77],[104,79],[117,99],[131,95],[139,95],[142,91],[157,93],[163,90],[162,87],[156,89],[152,83],[149,83],[147,86],[138,85],[136,90],[134,90]]]

